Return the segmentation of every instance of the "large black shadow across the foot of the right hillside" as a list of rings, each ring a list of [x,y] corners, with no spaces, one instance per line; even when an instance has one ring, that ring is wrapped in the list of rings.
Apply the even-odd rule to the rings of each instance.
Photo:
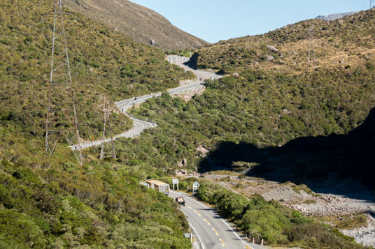
[[[317,193],[375,201],[375,108],[348,135],[301,137],[264,149],[222,142],[201,161],[199,172],[234,169],[232,163],[240,161],[256,165],[248,176],[304,183]]]

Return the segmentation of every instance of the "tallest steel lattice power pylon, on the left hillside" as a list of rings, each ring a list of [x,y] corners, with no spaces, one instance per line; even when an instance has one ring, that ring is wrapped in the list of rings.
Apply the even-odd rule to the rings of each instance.
[[[82,165],[76,103],[64,27],[64,15],[69,12],[62,9],[62,0],[53,0],[53,4],[54,9],[43,14],[53,15],[50,90],[47,120],[45,121],[45,151],[52,155],[59,140],[65,139],[71,146],[78,144],[73,147],[73,152]]]

